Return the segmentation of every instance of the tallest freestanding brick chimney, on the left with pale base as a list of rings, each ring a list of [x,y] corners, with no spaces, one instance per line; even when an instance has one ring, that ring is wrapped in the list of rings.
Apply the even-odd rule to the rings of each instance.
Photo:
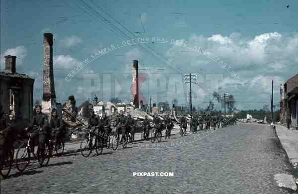
[[[53,71],[53,34],[43,34],[44,65],[43,65],[43,97],[42,111],[51,118],[52,108],[56,107],[56,94]]]

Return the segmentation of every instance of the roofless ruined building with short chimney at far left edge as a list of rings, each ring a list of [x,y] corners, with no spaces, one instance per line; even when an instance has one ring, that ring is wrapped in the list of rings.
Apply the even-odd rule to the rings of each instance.
[[[0,72],[0,102],[11,119],[29,121],[33,113],[34,79],[16,73],[15,64],[16,56],[5,56],[5,70]]]

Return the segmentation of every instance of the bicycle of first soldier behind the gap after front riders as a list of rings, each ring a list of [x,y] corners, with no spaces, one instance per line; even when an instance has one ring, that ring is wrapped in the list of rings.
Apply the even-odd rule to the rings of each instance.
[[[95,133],[95,132],[93,132],[93,131],[91,132],[90,129],[87,129],[87,130],[89,130],[88,135],[85,136],[85,138],[83,138],[80,143],[80,151],[81,151],[82,156],[85,158],[88,158],[93,149],[95,149],[97,155],[101,155],[102,150],[103,150],[102,139],[99,138],[98,134],[95,134],[95,141],[93,144],[94,136],[91,136],[91,133]],[[86,151],[86,153],[84,151]]]

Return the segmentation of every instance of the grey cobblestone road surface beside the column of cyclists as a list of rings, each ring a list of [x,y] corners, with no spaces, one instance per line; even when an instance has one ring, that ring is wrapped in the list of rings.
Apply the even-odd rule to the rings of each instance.
[[[1,180],[1,194],[292,193],[274,181],[275,174],[292,169],[269,126],[239,124],[204,138],[200,134],[197,141],[194,136],[162,137],[161,143],[176,147],[144,149],[141,143],[87,159],[80,153],[51,158],[43,168],[34,163]],[[134,177],[134,172],[173,172],[174,177]]]

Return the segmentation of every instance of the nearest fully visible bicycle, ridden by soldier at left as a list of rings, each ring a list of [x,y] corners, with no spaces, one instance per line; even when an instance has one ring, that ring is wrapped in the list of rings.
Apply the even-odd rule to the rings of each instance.
[[[41,128],[37,129],[41,131]],[[39,162],[40,167],[46,166],[49,164],[50,158],[52,156],[52,150],[49,147],[49,141],[45,143],[45,152],[42,154],[39,148],[37,147],[36,155],[34,154],[34,150],[31,149],[30,142],[31,142],[32,132],[29,133],[29,139],[27,144],[21,144],[16,152],[16,168],[22,172],[24,171],[30,163],[31,153],[33,154],[33,159],[37,159]],[[34,141],[34,140],[33,140]],[[42,158],[42,155],[44,156]],[[24,162],[24,163],[23,163]],[[23,166],[24,165],[24,166]]]

